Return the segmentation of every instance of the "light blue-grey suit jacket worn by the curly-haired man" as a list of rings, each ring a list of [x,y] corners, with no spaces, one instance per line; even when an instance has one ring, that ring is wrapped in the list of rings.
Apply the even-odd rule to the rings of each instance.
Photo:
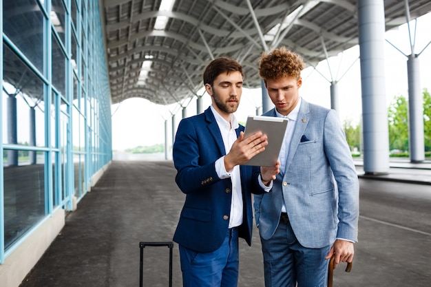
[[[276,116],[275,110],[264,116]],[[277,175],[271,192],[255,195],[262,238],[273,236],[284,202],[302,246],[322,248],[336,237],[357,242],[359,181],[337,113],[302,99],[288,158],[281,164],[286,172]]]

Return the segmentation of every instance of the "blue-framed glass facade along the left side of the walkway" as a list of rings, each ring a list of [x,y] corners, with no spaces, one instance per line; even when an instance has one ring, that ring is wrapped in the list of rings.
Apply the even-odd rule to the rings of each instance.
[[[0,264],[112,160],[98,1],[0,1]]]

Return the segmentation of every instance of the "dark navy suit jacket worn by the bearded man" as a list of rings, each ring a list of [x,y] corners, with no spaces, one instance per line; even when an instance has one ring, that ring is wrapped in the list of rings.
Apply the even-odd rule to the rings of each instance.
[[[244,127],[236,129],[237,136]],[[176,183],[186,194],[174,241],[198,252],[219,248],[227,235],[231,211],[231,178],[220,179],[215,161],[226,154],[222,134],[211,108],[185,118],[174,142]],[[251,244],[253,212],[251,193],[263,193],[257,181],[259,167],[240,166],[244,219],[239,235]]]

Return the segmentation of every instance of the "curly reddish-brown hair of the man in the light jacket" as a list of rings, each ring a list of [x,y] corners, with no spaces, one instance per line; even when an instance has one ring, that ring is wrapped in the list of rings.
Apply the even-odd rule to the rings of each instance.
[[[285,76],[298,79],[303,69],[302,57],[286,47],[280,47],[269,53],[264,52],[259,60],[259,76],[264,81],[277,80]]]

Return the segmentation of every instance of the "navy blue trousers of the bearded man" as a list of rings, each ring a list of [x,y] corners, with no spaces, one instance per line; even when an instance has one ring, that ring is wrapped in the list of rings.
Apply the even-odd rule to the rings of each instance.
[[[229,229],[220,248],[199,253],[179,246],[183,287],[236,287],[240,255],[238,229]]]

